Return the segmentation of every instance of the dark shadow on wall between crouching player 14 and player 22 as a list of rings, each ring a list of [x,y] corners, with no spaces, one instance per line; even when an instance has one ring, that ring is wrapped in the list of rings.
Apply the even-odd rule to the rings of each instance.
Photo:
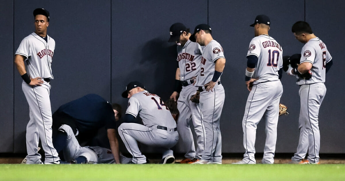
[[[133,56],[136,60],[130,62],[132,63],[131,71],[126,72],[128,77],[125,84],[138,80],[149,92],[159,95],[163,101],[167,100],[174,87],[176,56],[176,44],[169,43],[166,37],[157,37],[144,43],[141,51]],[[128,99],[121,99],[124,112],[127,102]],[[155,148],[144,144],[141,144],[140,150],[146,153],[155,152]]]

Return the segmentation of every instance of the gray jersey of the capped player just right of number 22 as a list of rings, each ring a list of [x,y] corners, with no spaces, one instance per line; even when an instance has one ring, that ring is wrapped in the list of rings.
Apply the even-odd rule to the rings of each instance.
[[[225,58],[223,48],[216,40],[212,40],[203,49],[201,68],[195,86],[204,86],[212,80],[215,72],[215,61],[219,58]],[[220,81],[220,77],[218,81]]]

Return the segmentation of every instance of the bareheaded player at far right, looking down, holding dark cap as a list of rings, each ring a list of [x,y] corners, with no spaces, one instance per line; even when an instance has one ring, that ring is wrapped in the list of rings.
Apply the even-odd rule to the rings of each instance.
[[[326,44],[316,37],[307,22],[298,21],[292,26],[295,38],[305,43],[301,51],[300,64],[290,67],[288,75],[297,75],[300,97],[299,141],[292,163],[319,164],[320,131],[318,113],[326,94],[326,72],[333,61]],[[304,160],[308,151],[308,159]]]

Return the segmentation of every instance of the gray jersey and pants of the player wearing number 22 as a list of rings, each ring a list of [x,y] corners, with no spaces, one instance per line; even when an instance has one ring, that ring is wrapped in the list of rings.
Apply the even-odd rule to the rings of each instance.
[[[197,77],[200,70],[200,60],[203,47],[199,43],[188,40],[184,46],[177,46],[177,61],[180,69],[180,81],[186,81]],[[180,141],[176,147],[186,150],[185,158],[201,159],[204,151],[205,128],[201,121],[202,113],[200,104],[191,102],[191,95],[196,93],[193,84],[183,86],[177,100],[177,108],[180,112],[177,120],[177,130],[180,135]],[[193,123],[196,134],[197,148],[194,145],[193,133],[190,129],[190,123]]]

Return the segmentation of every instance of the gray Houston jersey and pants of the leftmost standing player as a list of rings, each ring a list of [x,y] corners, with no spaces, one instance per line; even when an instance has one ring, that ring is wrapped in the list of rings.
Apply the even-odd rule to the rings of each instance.
[[[31,78],[50,78],[51,62],[55,50],[55,41],[47,35],[47,42],[36,33],[25,37],[16,54],[24,56],[26,71]],[[29,103],[30,121],[27,125],[27,163],[40,163],[41,156],[37,153],[41,139],[42,148],[46,153],[45,162],[59,161],[58,153],[52,144],[52,117],[50,106],[50,84],[43,81],[42,86],[30,86],[22,82],[22,90]]]

